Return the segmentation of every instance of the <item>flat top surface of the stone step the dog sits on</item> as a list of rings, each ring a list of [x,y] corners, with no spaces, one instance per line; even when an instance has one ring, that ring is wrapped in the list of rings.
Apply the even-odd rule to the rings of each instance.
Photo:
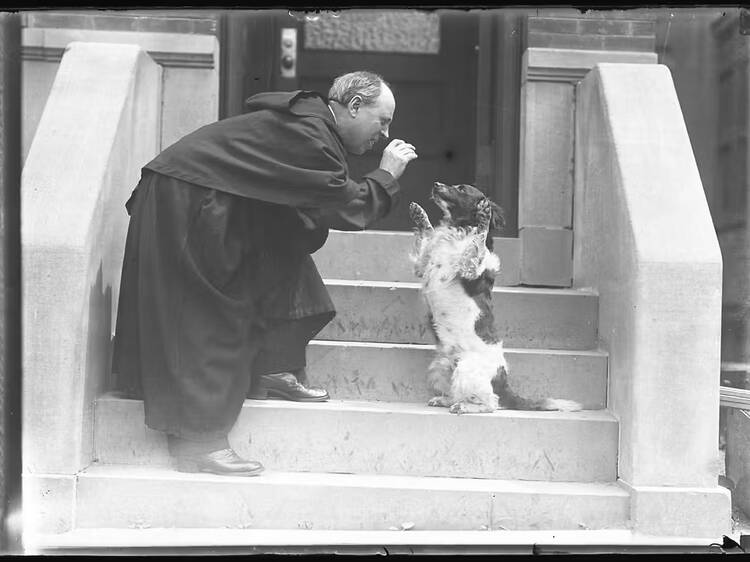
[[[105,395],[99,398],[99,401],[117,401],[117,402],[142,402],[141,400],[132,400],[129,398],[119,398],[113,395]],[[575,421],[600,421],[616,423],[614,415],[608,410],[581,410],[578,412],[561,412],[561,411],[527,411],[527,410],[496,410],[495,412],[483,414],[450,414],[446,408],[435,408],[427,406],[422,402],[374,402],[364,400],[337,400],[331,399],[328,402],[291,402],[288,400],[245,400],[245,407],[251,406],[259,409],[284,409],[284,410],[310,410],[310,411],[357,411],[357,412],[383,412],[386,414],[415,414],[426,416],[445,416],[450,415],[456,419],[465,418],[513,418],[528,419],[541,418],[549,420],[575,420]]]

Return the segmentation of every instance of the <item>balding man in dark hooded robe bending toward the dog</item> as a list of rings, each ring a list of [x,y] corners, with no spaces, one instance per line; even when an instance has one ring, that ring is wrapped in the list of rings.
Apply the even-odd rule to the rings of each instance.
[[[227,441],[248,393],[328,399],[305,386],[306,346],[335,315],[310,254],[329,228],[384,216],[417,157],[396,139],[349,178],[346,152],[387,138],[395,111],[373,73],[338,77],[328,99],[265,93],[247,107],[159,154],[126,204],[113,372],[185,472],[263,470]]]

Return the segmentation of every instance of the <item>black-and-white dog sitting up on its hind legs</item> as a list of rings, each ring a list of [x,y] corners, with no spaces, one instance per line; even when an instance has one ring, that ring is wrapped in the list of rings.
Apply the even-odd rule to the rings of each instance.
[[[422,280],[422,296],[437,340],[428,367],[436,396],[428,405],[454,414],[517,410],[580,410],[571,400],[530,400],[508,385],[508,364],[492,310],[492,287],[500,271],[491,230],[505,226],[502,208],[473,185],[435,182],[432,200],[442,211],[433,227],[417,203],[410,258]]]

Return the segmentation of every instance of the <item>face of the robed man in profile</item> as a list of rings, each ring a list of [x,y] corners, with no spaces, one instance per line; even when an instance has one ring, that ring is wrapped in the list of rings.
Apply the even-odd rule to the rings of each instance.
[[[374,103],[364,104],[355,96],[347,106],[346,122],[340,127],[346,149],[352,154],[364,154],[381,137],[388,138],[388,128],[395,110],[396,100],[385,85]]]

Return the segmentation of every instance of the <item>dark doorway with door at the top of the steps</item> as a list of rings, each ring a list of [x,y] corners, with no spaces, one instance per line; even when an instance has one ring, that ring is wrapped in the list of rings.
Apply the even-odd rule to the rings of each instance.
[[[437,220],[440,213],[429,200],[433,182],[437,180],[477,183],[505,207],[514,229],[517,174],[513,172],[518,163],[499,162],[496,168],[506,171],[503,177],[485,171],[478,173],[477,166],[478,161],[481,166],[482,158],[485,162],[487,159],[482,139],[487,137],[483,131],[492,119],[488,102],[497,103],[491,96],[497,97],[499,92],[488,82],[486,70],[478,76],[480,64],[486,68],[497,62],[497,38],[480,33],[490,19],[502,19],[499,12],[490,12],[345,10],[338,15],[281,10],[229,12],[221,33],[221,115],[242,113],[244,100],[258,92],[306,89],[325,95],[332,79],[340,74],[352,70],[377,72],[391,85],[396,97],[391,138],[414,144],[419,158],[409,164],[401,177],[401,194],[391,213],[370,228],[411,230],[408,214],[411,201],[420,203],[430,218]],[[378,25],[383,27],[379,29]],[[282,35],[288,30],[294,30],[296,36],[292,76],[284,76],[289,73],[288,69],[283,72],[282,64]],[[385,32],[381,33],[382,30]],[[513,37],[516,40],[520,34],[514,33]],[[483,62],[480,61],[482,42],[487,47]],[[514,52],[513,56],[520,54]],[[504,92],[520,89],[516,77],[511,78],[503,85]],[[517,103],[517,95],[512,101]],[[510,115],[510,122],[513,119],[517,122],[517,107],[506,102],[503,102],[503,119],[508,121]],[[513,138],[502,139],[495,146],[518,144],[517,130],[505,127],[503,134],[511,134]],[[503,160],[506,155],[517,157],[517,151],[501,152],[502,155],[496,154]],[[350,173],[357,179],[379,162],[380,154],[376,153],[350,156]]]

